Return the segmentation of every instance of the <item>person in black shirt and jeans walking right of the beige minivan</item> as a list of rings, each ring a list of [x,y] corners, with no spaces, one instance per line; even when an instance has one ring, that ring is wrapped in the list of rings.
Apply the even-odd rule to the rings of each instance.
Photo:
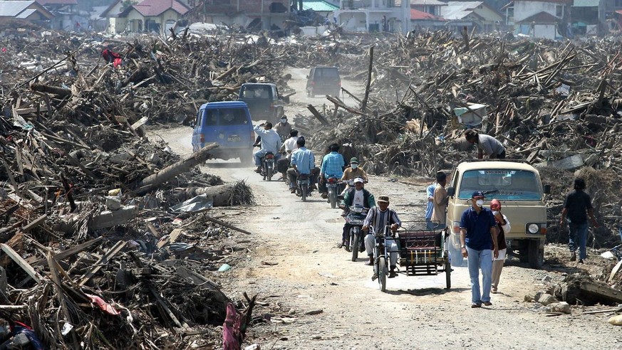
[[[585,190],[584,179],[574,179],[574,191],[566,195],[564,209],[561,211],[559,226],[564,226],[566,216],[568,216],[570,233],[568,237],[568,247],[570,248],[570,261],[576,260],[576,247],[579,245],[579,264],[584,263],[586,258],[585,245],[587,241],[588,223],[586,211],[590,216],[594,228],[598,228],[596,217],[594,217],[594,207],[592,200]]]

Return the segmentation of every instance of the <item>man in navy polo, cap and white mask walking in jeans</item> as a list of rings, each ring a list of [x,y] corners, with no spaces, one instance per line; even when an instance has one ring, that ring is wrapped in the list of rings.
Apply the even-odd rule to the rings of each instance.
[[[492,258],[499,256],[497,245],[497,221],[492,211],[484,208],[484,193],[475,191],[471,196],[471,207],[460,218],[460,245],[462,256],[468,259],[471,277],[471,307],[492,305]],[[493,250],[491,251],[491,248]],[[480,293],[480,268],[482,289]]]

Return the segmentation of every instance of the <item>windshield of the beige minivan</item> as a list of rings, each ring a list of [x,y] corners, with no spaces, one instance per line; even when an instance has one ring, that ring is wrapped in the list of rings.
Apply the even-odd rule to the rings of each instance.
[[[469,199],[475,191],[484,192],[487,198],[510,201],[539,201],[542,198],[536,174],[527,170],[465,171],[460,182],[458,198]]]

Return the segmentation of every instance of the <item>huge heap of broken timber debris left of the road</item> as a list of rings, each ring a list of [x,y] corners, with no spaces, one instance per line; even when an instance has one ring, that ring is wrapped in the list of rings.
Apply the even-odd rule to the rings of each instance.
[[[150,38],[124,43],[115,68],[85,38],[1,40],[0,317],[46,349],[180,349],[214,336],[201,327],[222,324],[230,300],[205,275],[231,263],[233,231],[249,234],[214,208],[252,203],[252,192],[198,171],[217,144],[179,157],[147,140],[145,124],[228,98],[270,55]]]

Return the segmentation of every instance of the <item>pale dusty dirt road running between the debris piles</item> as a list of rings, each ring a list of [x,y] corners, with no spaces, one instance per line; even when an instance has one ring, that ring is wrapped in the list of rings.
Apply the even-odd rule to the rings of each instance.
[[[321,98],[304,96],[306,70],[291,70],[291,88],[299,91],[287,113],[304,110]],[[359,84],[345,82],[354,93]],[[175,152],[192,152],[190,128],[160,133]],[[224,290],[228,295],[259,294],[266,304],[256,314],[271,314],[271,324],[249,330],[249,343],[261,349],[621,349],[620,329],[599,314],[546,317],[541,307],[523,302],[524,295],[541,289],[546,276],[557,272],[531,270],[509,262],[492,307],[470,308],[466,267],[455,267],[452,289],[445,290],[445,275],[388,280],[380,292],[363,258],[353,263],[336,248],[343,218],[318,196],[303,203],[281,182],[261,181],[251,167],[235,161],[210,161],[203,171],[225,181],[245,179],[258,206],[232,218],[254,233],[252,253],[232,264]],[[278,176],[275,176],[275,179]],[[423,218],[425,185],[408,186],[388,177],[371,176],[375,196],[390,197],[391,206],[405,220]],[[413,206],[413,203],[415,205]],[[242,238],[239,238],[242,239]],[[243,239],[247,239],[244,237]],[[363,254],[364,255],[364,254]],[[276,265],[272,265],[275,264]],[[318,314],[306,314],[321,310]]]

